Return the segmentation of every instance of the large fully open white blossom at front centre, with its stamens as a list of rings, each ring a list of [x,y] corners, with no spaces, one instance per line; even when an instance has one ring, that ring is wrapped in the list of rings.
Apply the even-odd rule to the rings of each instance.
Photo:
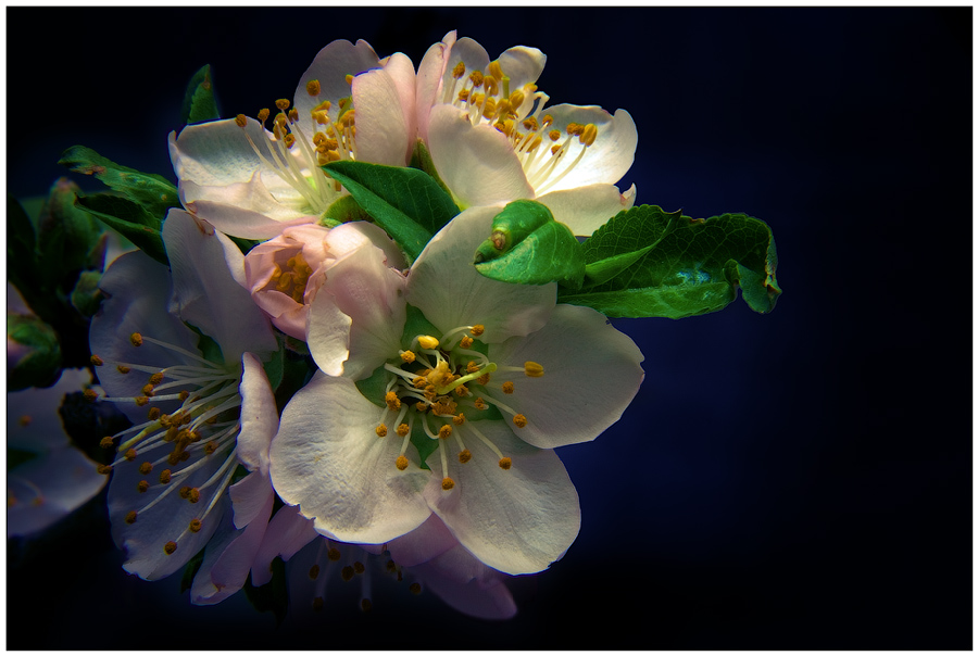
[[[296,393],[269,457],[279,496],[324,535],[383,544],[434,513],[514,575],[576,538],[577,493],[553,449],[620,417],[642,355],[598,312],[556,305],[555,283],[479,275],[468,254],[496,213],[456,216],[406,279],[361,250],[313,301],[310,352],[342,377],[317,373]],[[346,343],[333,304],[351,317]]]

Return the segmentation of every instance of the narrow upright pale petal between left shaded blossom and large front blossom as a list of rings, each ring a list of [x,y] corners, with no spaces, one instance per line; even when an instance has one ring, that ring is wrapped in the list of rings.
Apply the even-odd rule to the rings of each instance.
[[[268,445],[278,431],[278,409],[268,377],[258,357],[246,353],[241,393],[241,432],[238,434],[238,458],[251,471],[268,474]]]

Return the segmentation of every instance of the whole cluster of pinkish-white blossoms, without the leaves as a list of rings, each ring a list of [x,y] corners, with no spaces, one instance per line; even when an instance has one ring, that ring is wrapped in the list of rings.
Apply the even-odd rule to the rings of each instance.
[[[556,282],[492,280],[472,256],[511,201],[579,236],[630,207],[615,184],[637,133],[623,110],[549,106],[544,61],[490,61],[452,33],[415,72],[335,41],[274,115],[171,135],[168,267],[118,256],[90,328],[100,387],[85,394],[131,422],[99,466],[127,571],[155,580],[202,553],[191,598],[214,604],[281,558],[316,610],[330,578],[376,564],[504,618],[505,578],[563,556],[580,508],[554,449],[620,417],[642,355],[559,304]],[[324,164],[404,167],[418,143],[462,212],[413,261],[376,224],[327,218],[349,192]],[[309,375],[284,377],[296,363]]]

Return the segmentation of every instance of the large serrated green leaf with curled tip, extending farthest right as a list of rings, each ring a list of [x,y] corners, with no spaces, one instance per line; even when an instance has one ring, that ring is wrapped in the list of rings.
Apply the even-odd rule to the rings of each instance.
[[[767,313],[781,293],[770,228],[745,214],[692,219],[641,205],[620,212],[582,245],[598,276],[580,289],[559,290],[557,300],[610,317],[716,312],[737,298],[738,287],[752,310]]]

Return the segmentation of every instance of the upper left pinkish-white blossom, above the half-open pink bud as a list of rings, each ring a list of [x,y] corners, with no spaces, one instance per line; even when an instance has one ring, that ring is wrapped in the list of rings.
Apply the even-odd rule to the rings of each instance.
[[[263,109],[258,119],[239,114],[171,134],[180,199],[218,230],[248,239],[313,223],[344,193],[321,165],[408,163],[414,93],[405,55],[381,60],[366,41],[333,41],[300,78],[292,102],[276,101],[275,116]]]

